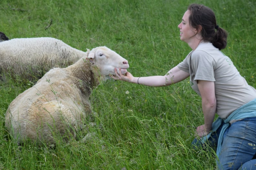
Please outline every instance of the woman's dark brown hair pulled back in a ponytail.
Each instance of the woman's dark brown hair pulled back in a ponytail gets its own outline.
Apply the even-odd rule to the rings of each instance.
[[[219,50],[227,45],[227,32],[216,23],[214,12],[204,5],[191,4],[187,10],[191,12],[189,24],[198,29],[202,26],[201,34],[203,41],[211,42]],[[216,31],[215,31],[216,30]]]

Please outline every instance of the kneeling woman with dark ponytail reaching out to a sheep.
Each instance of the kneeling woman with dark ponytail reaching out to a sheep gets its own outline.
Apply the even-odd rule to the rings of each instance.
[[[129,72],[120,75],[116,71],[113,79],[159,87],[190,76],[192,89],[202,98],[204,115],[204,125],[196,130],[202,141],[195,139],[193,143],[218,138],[217,165],[221,170],[256,169],[256,90],[220,52],[227,44],[226,31],[217,25],[211,9],[197,4],[188,7],[178,28],[180,39],[192,51],[167,74],[133,77]],[[219,118],[213,123],[215,113]]]

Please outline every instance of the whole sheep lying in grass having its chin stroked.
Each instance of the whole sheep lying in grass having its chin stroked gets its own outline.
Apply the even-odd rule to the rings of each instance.
[[[92,113],[89,97],[100,82],[128,61],[109,48],[96,47],[66,68],[53,68],[19,94],[5,113],[5,127],[19,144],[34,141],[54,145],[55,134],[68,141],[76,137],[83,118]]]

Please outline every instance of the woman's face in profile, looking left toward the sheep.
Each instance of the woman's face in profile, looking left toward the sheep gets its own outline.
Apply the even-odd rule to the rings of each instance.
[[[180,40],[187,43],[193,41],[193,37],[197,34],[197,30],[190,27],[188,20],[190,13],[191,12],[187,10],[182,17],[182,22],[178,25],[178,28],[180,29]]]

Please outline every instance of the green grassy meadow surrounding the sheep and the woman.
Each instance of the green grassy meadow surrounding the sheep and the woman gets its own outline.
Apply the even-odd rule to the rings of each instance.
[[[54,37],[82,51],[105,45],[129,61],[134,76],[164,75],[191,51],[177,28],[191,3],[213,9],[229,33],[223,52],[256,87],[254,0],[1,0],[0,31],[9,39]],[[215,169],[213,151],[191,147],[203,114],[188,79],[157,88],[102,83],[80,140],[54,148],[18,146],[4,127],[9,103],[31,86],[18,77],[0,81],[0,169]]]

